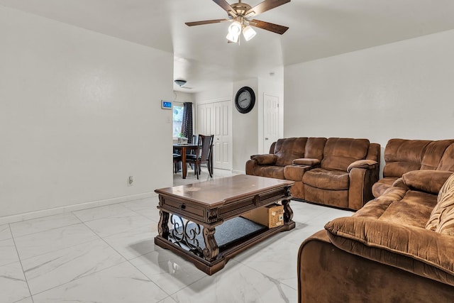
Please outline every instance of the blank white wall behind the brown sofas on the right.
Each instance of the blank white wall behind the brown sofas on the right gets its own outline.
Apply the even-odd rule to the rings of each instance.
[[[284,70],[284,136],[454,138],[454,31]]]

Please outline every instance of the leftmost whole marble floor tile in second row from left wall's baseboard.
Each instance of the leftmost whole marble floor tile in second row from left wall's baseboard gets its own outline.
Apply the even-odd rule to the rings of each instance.
[[[90,228],[81,223],[32,233],[15,238],[15,241],[19,257],[24,260],[98,238]]]

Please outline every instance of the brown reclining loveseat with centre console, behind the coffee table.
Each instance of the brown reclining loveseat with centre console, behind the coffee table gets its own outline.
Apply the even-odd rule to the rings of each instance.
[[[360,209],[373,198],[380,145],[355,138],[283,138],[252,155],[246,174],[295,181],[294,199]]]

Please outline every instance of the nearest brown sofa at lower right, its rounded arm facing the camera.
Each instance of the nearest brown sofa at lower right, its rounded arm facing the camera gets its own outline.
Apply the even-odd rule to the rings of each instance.
[[[407,172],[307,238],[298,253],[299,302],[454,302],[454,175],[450,201],[437,199],[450,175]],[[432,230],[433,217],[450,226]]]

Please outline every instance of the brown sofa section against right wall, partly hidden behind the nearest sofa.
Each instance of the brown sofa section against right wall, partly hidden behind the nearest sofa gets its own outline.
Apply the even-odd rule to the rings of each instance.
[[[454,172],[454,140],[391,139],[384,148],[384,162],[383,178],[372,187],[374,197],[411,170]]]

